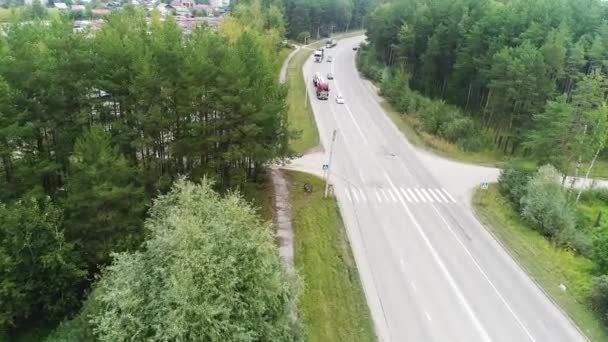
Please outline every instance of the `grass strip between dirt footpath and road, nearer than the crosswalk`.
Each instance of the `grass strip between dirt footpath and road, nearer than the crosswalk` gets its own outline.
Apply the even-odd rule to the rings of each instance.
[[[295,263],[304,289],[300,314],[310,342],[375,341],[357,267],[334,198],[323,181],[289,172]],[[305,193],[305,182],[313,193]]]

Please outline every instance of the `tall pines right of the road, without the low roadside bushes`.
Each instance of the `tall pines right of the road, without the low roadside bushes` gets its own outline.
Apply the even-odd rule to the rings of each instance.
[[[538,140],[546,133],[543,112],[560,116],[552,126],[566,125],[570,137],[603,135],[603,119],[581,118],[604,102],[582,88],[605,93],[607,9],[601,0],[389,1],[373,10],[367,27],[374,58],[403,67],[414,90],[474,113],[505,151],[516,151],[533,131],[537,141],[525,146],[539,151],[549,143]],[[581,149],[570,153],[569,162],[589,158]]]

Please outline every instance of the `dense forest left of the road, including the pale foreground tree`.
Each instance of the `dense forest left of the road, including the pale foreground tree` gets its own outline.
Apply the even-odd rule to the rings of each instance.
[[[295,280],[234,194],[289,155],[284,26],[256,1],[189,35],[131,7],[3,27],[0,340],[297,340]]]

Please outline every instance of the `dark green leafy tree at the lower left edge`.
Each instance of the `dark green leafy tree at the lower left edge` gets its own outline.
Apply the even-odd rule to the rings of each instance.
[[[54,322],[79,306],[86,269],[61,225],[49,201],[0,203],[0,330],[27,319]]]

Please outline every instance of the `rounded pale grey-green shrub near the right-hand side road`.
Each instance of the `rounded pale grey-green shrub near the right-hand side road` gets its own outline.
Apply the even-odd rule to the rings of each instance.
[[[560,173],[551,165],[541,167],[521,198],[521,216],[546,236],[574,230],[575,218],[560,184]]]

